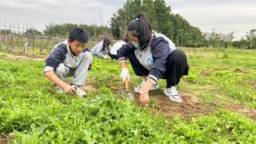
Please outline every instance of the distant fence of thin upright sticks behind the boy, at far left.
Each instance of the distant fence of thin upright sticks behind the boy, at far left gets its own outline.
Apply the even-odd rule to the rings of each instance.
[[[0,50],[18,54],[45,55],[49,54],[54,45],[66,39],[65,36],[44,36],[40,34],[26,34],[27,30],[34,30],[34,26],[0,25]],[[102,37],[102,36],[100,36]],[[99,39],[90,39],[86,47],[93,47]],[[112,40],[116,42],[117,40]]]

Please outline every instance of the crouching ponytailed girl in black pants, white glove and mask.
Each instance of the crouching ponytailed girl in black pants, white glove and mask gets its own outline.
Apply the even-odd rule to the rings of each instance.
[[[183,75],[188,74],[186,54],[177,50],[165,35],[152,31],[144,13],[138,14],[138,18],[130,22],[127,37],[129,42],[118,50],[122,81],[130,78],[126,67],[128,58],[134,73],[144,78],[142,84],[134,88],[140,93],[142,104],[150,102],[148,93],[159,88],[159,78],[166,79],[164,94],[173,102],[182,102],[175,86]]]

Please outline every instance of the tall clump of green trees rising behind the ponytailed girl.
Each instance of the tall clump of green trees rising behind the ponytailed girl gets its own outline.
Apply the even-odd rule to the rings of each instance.
[[[171,14],[170,6],[166,6],[164,0],[127,0],[110,21],[115,38],[126,36],[126,27],[139,12],[146,13],[153,30],[165,34],[178,46],[202,46],[205,41],[201,30],[191,26],[179,14]]]

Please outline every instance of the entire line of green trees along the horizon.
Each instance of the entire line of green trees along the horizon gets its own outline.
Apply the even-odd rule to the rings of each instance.
[[[191,26],[179,14],[172,14],[170,6],[167,6],[164,0],[126,0],[122,8],[110,18],[110,26],[50,23],[43,30],[43,35],[67,37],[71,29],[79,26],[86,30],[91,38],[105,35],[114,39],[122,39],[126,37],[126,27],[136,18],[139,12],[145,12],[153,30],[165,34],[176,46],[256,49],[256,29],[250,30],[245,38],[240,41],[225,42],[218,36],[206,40],[205,35],[198,27]],[[38,30],[27,30],[26,34],[42,35]],[[234,33],[230,34],[232,40]]]

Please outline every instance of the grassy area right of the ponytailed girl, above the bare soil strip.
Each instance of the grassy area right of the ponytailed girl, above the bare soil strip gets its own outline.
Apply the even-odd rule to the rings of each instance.
[[[186,49],[186,54],[190,74],[183,78],[182,90],[205,102],[229,99],[256,109],[256,51]]]

